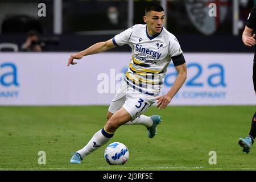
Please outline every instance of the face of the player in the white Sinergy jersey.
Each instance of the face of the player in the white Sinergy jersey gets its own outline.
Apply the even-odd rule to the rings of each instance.
[[[164,23],[164,12],[150,11],[143,17],[147,23],[148,34],[155,35],[161,32]]]

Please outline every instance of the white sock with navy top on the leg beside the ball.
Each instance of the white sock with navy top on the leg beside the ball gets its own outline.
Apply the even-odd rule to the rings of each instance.
[[[77,151],[77,153],[79,153],[82,159],[84,159],[86,155],[89,155],[104,144],[108,143],[113,135],[114,134],[106,133],[104,129],[101,129],[100,131],[97,131],[97,133],[93,135],[92,139],[90,139],[86,146],[81,150]]]

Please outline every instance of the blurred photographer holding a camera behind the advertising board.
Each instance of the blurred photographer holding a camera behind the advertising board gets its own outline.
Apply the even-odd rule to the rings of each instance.
[[[27,40],[22,44],[20,51],[41,52],[42,46],[39,41],[39,35],[36,31],[30,31],[27,35]]]

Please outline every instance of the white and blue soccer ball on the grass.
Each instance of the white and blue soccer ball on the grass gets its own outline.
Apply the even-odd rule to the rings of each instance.
[[[127,162],[129,158],[129,151],[124,144],[120,142],[113,142],[106,147],[104,157],[106,162],[110,165],[122,165]]]

